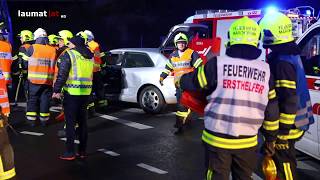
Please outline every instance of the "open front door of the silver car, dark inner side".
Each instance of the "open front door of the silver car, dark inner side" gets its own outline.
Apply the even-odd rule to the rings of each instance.
[[[122,51],[110,52],[106,58],[106,66],[101,70],[105,94],[120,94],[123,88]]]

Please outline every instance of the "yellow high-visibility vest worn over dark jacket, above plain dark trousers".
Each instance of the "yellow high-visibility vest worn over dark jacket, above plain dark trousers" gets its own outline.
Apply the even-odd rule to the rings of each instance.
[[[76,50],[68,50],[71,60],[69,76],[63,89],[70,95],[90,95],[94,60],[86,59]]]

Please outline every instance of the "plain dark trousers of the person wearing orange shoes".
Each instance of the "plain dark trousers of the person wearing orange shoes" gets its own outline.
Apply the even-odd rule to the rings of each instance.
[[[63,107],[66,123],[66,148],[69,153],[74,153],[74,140],[76,135],[75,124],[78,124],[77,133],[79,136],[79,152],[85,152],[88,139],[88,104],[89,96],[73,96],[64,93]]]

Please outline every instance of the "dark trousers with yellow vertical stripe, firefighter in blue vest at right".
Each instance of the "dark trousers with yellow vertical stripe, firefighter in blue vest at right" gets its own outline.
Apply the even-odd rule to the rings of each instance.
[[[281,180],[297,179],[297,160],[295,150],[296,140],[288,140],[288,146],[279,146],[276,143],[276,152],[272,157],[277,166],[277,177]]]

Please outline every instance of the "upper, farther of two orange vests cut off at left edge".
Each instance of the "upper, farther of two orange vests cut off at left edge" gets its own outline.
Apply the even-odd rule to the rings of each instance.
[[[7,41],[0,41],[0,67],[4,75],[6,84],[12,82],[11,79],[11,64],[12,64],[12,47],[11,44]]]

